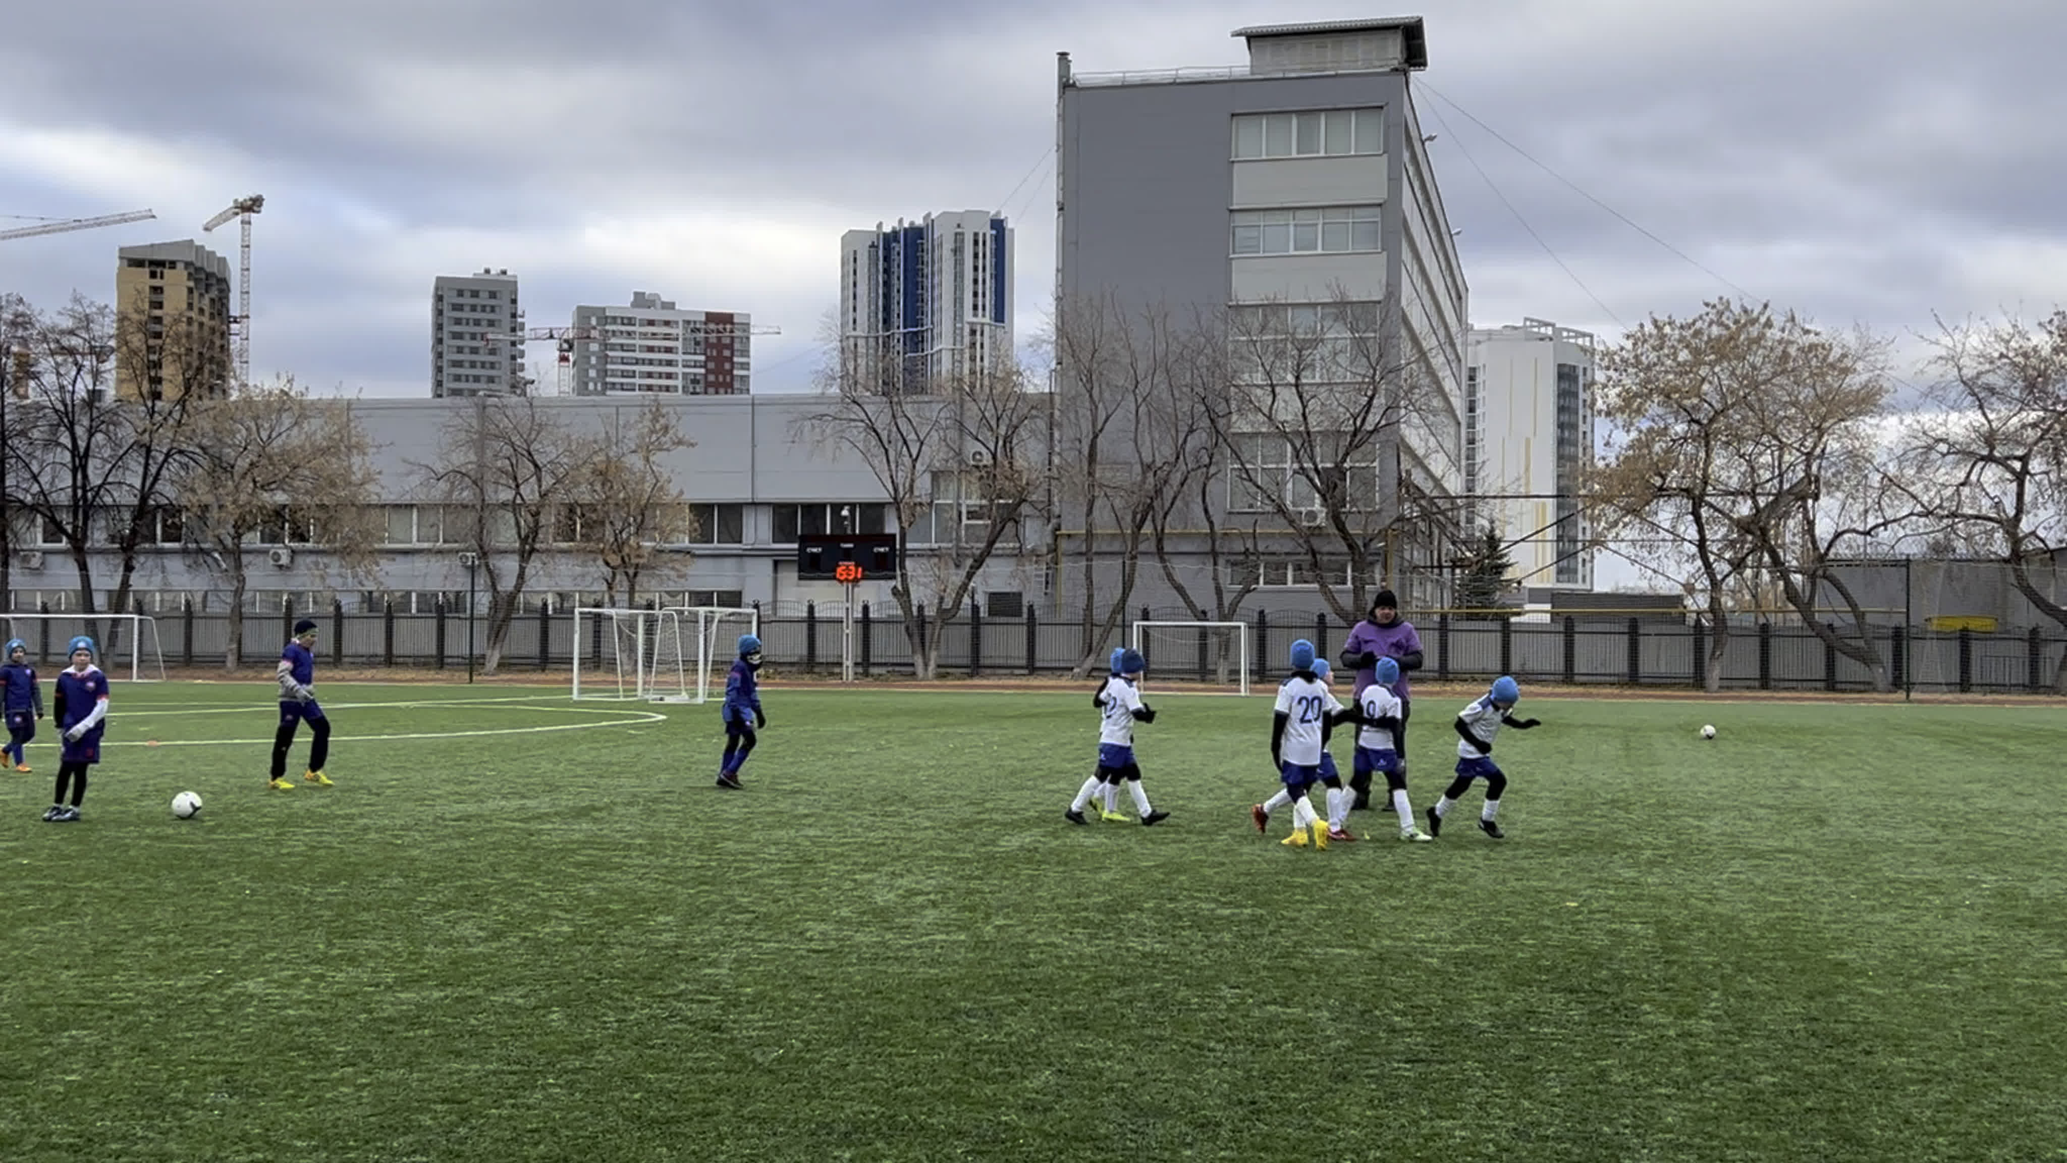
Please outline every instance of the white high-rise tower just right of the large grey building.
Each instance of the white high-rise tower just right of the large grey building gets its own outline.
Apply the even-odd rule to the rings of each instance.
[[[1594,354],[1587,331],[1523,319],[1472,329],[1466,366],[1466,495],[1474,528],[1509,542],[1513,579],[1592,590],[1592,528],[1579,478],[1594,464]]]

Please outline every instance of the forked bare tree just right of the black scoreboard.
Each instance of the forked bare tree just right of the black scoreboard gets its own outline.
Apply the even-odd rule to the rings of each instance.
[[[1009,356],[963,375],[912,385],[903,354],[858,356],[837,346],[821,370],[825,408],[798,418],[819,443],[862,457],[897,511],[897,582],[891,598],[912,644],[912,670],[932,679],[940,660],[938,619],[969,598],[1000,550],[1023,553],[1021,519],[1034,509],[1044,472],[1040,420],[1046,397],[1027,391]],[[876,360],[897,360],[897,368]],[[914,555],[914,538],[934,548]]]

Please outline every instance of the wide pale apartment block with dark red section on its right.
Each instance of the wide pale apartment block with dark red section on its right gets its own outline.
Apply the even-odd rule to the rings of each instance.
[[[577,306],[573,393],[746,395],[752,391],[752,317],[680,310],[651,292],[630,306]]]

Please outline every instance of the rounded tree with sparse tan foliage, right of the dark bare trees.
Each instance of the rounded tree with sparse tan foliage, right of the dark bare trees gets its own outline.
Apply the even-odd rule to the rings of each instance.
[[[314,540],[347,573],[374,565],[376,474],[366,430],[345,401],[316,401],[283,377],[234,385],[188,418],[192,457],[176,478],[188,557],[229,586],[223,668],[244,658],[244,594],[267,534]]]

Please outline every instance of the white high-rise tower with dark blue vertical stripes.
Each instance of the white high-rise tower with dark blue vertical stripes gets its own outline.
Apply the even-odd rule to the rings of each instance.
[[[965,209],[839,238],[839,335],[870,391],[928,383],[1013,356],[1013,230]]]

